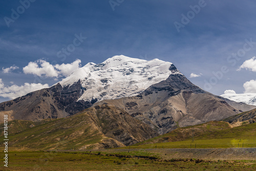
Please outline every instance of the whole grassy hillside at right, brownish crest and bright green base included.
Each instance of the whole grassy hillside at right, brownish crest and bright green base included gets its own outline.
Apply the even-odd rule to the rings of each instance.
[[[192,130],[194,136],[188,133]],[[212,121],[183,127],[126,148],[228,148],[243,145],[256,147],[256,123],[230,128],[228,123]]]

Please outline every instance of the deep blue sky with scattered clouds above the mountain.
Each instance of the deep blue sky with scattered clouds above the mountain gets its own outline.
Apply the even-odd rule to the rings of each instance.
[[[189,12],[190,6],[199,6],[200,11]],[[187,78],[191,73],[198,76],[189,78],[191,82],[216,95],[229,89],[256,93],[252,65],[256,56],[255,8],[252,0],[2,0],[0,102],[46,84],[51,86],[68,74],[65,67],[72,70],[121,54],[173,62]],[[182,14],[190,19],[188,24],[183,20],[178,32],[174,23],[182,24]],[[74,46],[77,36],[86,38]],[[65,54],[62,48],[68,47],[72,52]],[[248,60],[252,64],[247,62],[237,71]],[[55,66],[57,76],[29,68],[43,63]],[[62,63],[71,65],[56,67]],[[26,66],[29,69],[24,71]],[[243,87],[250,80],[249,88]]]

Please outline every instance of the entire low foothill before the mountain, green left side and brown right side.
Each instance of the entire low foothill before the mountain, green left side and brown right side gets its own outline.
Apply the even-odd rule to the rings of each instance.
[[[132,145],[159,134],[111,105],[97,105],[67,118],[9,135],[15,149],[99,149]]]

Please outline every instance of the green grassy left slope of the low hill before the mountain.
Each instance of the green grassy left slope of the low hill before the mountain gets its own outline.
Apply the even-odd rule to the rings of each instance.
[[[11,134],[9,136],[10,147],[16,149],[74,149],[77,146],[96,143],[104,136],[92,122],[87,114],[80,114],[40,124],[23,132]]]

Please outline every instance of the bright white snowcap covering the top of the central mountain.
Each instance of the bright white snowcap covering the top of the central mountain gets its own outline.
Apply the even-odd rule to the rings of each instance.
[[[181,74],[171,62],[120,55],[99,64],[90,62],[59,83],[66,87],[80,80],[84,92],[78,100],[100,101],[138,95],[170,74]]]

